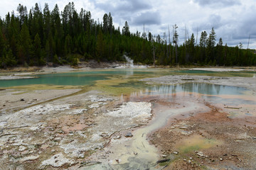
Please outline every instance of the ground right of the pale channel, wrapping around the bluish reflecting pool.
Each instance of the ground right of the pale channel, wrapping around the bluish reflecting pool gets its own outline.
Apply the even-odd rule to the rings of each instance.
[[[184,75],[144,81],[150,84],[196,82],[246,87],[252,91],[243,98],[256,101],[255,78]],[[240,98],[242,100],[242,96]],[[204,104],[210,111],[172,117],[168,125],[150,135],[151,144],[159,148],[162,155],[160,166],[163,169],[255,169],[255,105],[228,107],[206,101]],[[233,117],[233,112],[237,116]]]

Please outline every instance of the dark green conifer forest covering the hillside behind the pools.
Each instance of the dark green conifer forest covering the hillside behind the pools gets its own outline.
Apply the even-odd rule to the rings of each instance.
[[[178,26],[173,35],[131,33],[126,22],[115,28],[111,13],[105,13],[102,21],[92,19],[90,11],[75,9],[69,3],[60,12],[58,5],[53,11],[45,4],[43,11],[36,4],[28,11],[18,4],[14,12],[0,19],[0,67],[56,64],[76,65],[79,61],[124,61],[124,54],[134,62],[143,64],[209,64],[209,65],[256,65],[253,50],[223,45],[215,40],[215,30],[191,35],[186,43],[178,45]],[[167,44],[167,39],[172,43]]]

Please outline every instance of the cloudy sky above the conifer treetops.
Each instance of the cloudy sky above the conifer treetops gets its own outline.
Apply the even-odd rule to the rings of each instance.
[[[68,4],[68,0],[4,0],[1,1],[0,16],[4,18],[8,11],[15,11],[19,3],[30,9],[36,3],[43,6],[48,3],[50,10],[58,4],[60,11]],[[78,13],[84,8],[92,13],[92,18],[102,21],[104,13],[111,12],[114,25],[124,26],[127,21],[132,32],[150,31],[153,35],[172,33],[172,26],[177,24],[179,43],[185,36],[198,32],[198,42],[201,31],[210,33],[215,29],[217,41],[223,38],[223,43],[230,46],[242,42],[247,48],[250,36],[250,48],[256,48],[256,3],[255,0],[73,0]],[[197,31],[198,30],[198,31]]]

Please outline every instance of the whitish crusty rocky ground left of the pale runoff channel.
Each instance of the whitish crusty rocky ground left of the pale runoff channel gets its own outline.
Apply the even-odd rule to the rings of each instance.
[[[0,94],[3,170],[80,169],[90,162],[90,154],[108,145],[110,137],[119,139],[120,131],[151,119],[150,103],[120,102],[99,91],[15,93]]]

